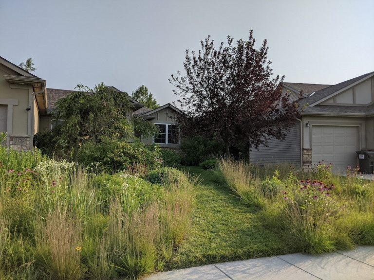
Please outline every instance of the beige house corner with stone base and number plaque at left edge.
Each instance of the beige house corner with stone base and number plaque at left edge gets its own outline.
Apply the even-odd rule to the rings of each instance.
[[[0,57],[0,132],[6,145],[30,150],[47,110],[45,80]]]

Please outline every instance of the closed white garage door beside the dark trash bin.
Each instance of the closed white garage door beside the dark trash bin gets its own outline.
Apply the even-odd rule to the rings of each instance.
[[[358,164],[357,154],[360,149],[357,126],[313,125],[312,160],[318,164],[322,159],[333,163],[334,173],[344,173],[347,166]]]

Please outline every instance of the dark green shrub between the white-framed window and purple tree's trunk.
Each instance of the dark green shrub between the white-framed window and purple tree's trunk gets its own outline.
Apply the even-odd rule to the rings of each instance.
[[[212,159],[212,155],[218,157],[223,154],[224,142],[207,140],[201,136],[192,136],[181,144],[184,156],[183,165],[198,166],[200,162]]]

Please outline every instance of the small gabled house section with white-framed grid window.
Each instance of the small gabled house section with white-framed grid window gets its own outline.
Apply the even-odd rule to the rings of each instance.
[[[134,111],[135,116],[140,116],[145,120],[150,121],[158,126],[160,133],[154,137],[143,138],[141,141],[146,144],[156,143],[161,148],[179,149],[180,148],[180,137],[179,128],[175,124],[176,118],[183,115],[177,107],[170,103],[165,104],[156,109],[150,109],[147,107],[140,108]],[[137,136],[135,134],[135,136]]]

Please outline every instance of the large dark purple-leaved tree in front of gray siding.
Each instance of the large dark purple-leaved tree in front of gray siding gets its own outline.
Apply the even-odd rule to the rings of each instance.
[[[188,116],[179,119],[182,134],[222,139],[226,155],[238,142],[257,148],[284,139],[299,116],[298,101],[282,95],[283,77],[273,77],[267,41],[256,49],[252,30],[247,41],[233,41],[228,36],[216,49],[208,36],[198,53],[186,51],[186,75],[169,79]]]

